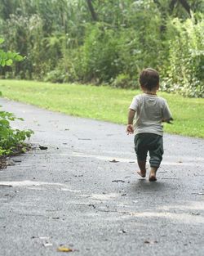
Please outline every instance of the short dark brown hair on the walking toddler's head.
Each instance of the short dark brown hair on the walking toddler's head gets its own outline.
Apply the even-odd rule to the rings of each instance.
[[[157,70],[150,68],[142,70],[139,82],[141,87],[147,88],[149,91],[156,88],[159,84],[159,74]]]

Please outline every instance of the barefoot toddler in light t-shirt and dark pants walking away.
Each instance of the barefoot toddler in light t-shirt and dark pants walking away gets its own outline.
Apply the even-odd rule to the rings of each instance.
[[[141,177],[146,176],[146,159],[149,152],[149,181],[157,181],[156,173],[162,162],[163,127],[162,122],[171,124],[171,112],[167,102],[157,97],[159,74],[156,70],[145,69],[140,74],[142,94],[135,96],[131,102],[127,134],[135,134],[135,153]],[[134,122],[133,122],[134,121]]]

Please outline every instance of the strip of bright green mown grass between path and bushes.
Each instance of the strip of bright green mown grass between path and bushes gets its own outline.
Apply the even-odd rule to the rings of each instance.
[[[118,124],[126,124],[132,97],[140,93],[102,86],[22,80],[0,80],[0,91],[3,97],[11,100]],[[204,137],[204,99],[184,98],[165,92],[158,95],[166,98],[175,119],[173,125],[165,124],[165,132]]]

